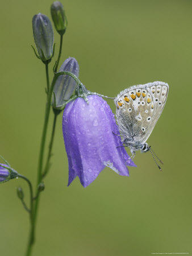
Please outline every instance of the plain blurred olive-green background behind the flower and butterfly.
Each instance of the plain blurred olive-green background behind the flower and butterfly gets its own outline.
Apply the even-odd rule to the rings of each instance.
[[[51,18],[51,3],[10,0],[2,2],[0,10],[0,154],[34,184],[45,110],[45,68],[31,48],[35,45],[31,20],[39,12]],[[114,97],[131,85],[168,82],[168,101],[148,139],[164,166],[160,172],[150,153],[137,151],[137,168],[130,168],[130,177],[106,168],[87,188],[78,179],[66,187],[68,160],[60,115],[33,255],[191,255],[192,2],[62,3],[68,28],[61,61],[76,57],[87,89]],[[55,42],[57,53],[56,32]],[[113,101],[107,102],[115,112]],[[18,185],[27,200],[24,181],[0,186],[2,256],[20,256],[26,250],[29,220],[16,196]]]

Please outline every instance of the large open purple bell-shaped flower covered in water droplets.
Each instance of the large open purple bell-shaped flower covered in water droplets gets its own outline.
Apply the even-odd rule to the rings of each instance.
[[[127,155],[110,106],[97,95],[66,105],[62,130],[69,163],[69,182],[76,176],[87,187],[107,166],[117,174],[129,176],[127,166],[135,164]]]

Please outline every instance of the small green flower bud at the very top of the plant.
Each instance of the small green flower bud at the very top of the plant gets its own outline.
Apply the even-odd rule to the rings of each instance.
[[[60,35],[63,35],[66,30],[67,20],[62,3],[60,3],[59,1],[52,3],[51,16],[55,25],[55,29]]]

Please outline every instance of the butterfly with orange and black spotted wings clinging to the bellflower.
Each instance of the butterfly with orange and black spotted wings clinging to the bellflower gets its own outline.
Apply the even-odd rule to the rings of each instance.
[[[164,109],[168,92],[168,84],[156,81],[133,85],[116,96],[114,101],[120,136],[123,137],[123,144],[130,148],[132,157],[136,150],[150,150],[152,156],[155,154],[146,141]]]

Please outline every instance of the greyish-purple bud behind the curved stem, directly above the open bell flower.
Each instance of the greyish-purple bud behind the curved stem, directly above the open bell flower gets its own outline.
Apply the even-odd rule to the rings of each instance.
[[[69,57],[68,59],[66,59],[59,70],[59,72],[62,71],[72,72],[78,77],[79,66],[77,60],[73,57]],[[62,106],[64,104],[64,101],[69,100],[75,88],[76,81],[74,81],[73,77],[70,77],[68,75],[59,76],[53,90],[56,100],[55,106]]]

